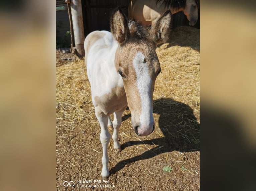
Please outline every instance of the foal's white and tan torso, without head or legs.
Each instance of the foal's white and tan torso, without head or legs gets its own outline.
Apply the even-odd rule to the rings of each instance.
[[[91,84],[92,101],[106,115],[127,106],[122,77],[116,71],[114,60],[118,43],[108,31],[94,31],[85,41],[88,50],[87,75]],[[97,59],[96,59],[97,58]]]

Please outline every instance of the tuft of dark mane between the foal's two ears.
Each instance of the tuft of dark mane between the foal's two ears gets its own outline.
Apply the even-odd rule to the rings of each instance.
[[[149,38],[148,27],[135,21],[129,21],[130,35],[134,39],[142,40]]]

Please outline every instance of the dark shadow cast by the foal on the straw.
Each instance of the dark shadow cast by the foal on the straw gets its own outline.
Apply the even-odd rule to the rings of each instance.
[[[143,142],[128,141],[123,143],[121,145],[122,150],[125,147],[144,143],[157,146],[141,155],[120,161],[110,169],[111,174],[115,174],[127,164],[149,159],[161,153],[174,150],[179,152],[200,150],[200,124],[197,122],[191,107],[170,98],[160,98],[154,100],[153,112],[160,114],[159,128],[164,136],[143,140]]]

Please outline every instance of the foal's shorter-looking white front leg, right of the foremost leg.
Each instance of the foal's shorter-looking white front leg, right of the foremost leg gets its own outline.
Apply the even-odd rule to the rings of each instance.
[[[126,107],[127,106],[125,106],[120,111],[114,112],[114,121],[113,121],[114,131],[113,131],[112,139],[114,140],[114,149],[117,152],[121,151],[121,146],[120,146],[120,143],[118,141],[118,132],[119,132],[119,128],[120,128],[121,122],[122,122],[122,114],[123,114],[124,110],[126,109]]]

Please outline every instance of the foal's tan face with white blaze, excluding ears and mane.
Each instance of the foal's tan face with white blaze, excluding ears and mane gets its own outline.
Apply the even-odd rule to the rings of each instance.
[[[155,128],[152,103],[154,84],[160,73],[160,63],[151,40],[127,42],[120,48],[117,70],[121,75],[132,113],[132,126],[139,136]]]

